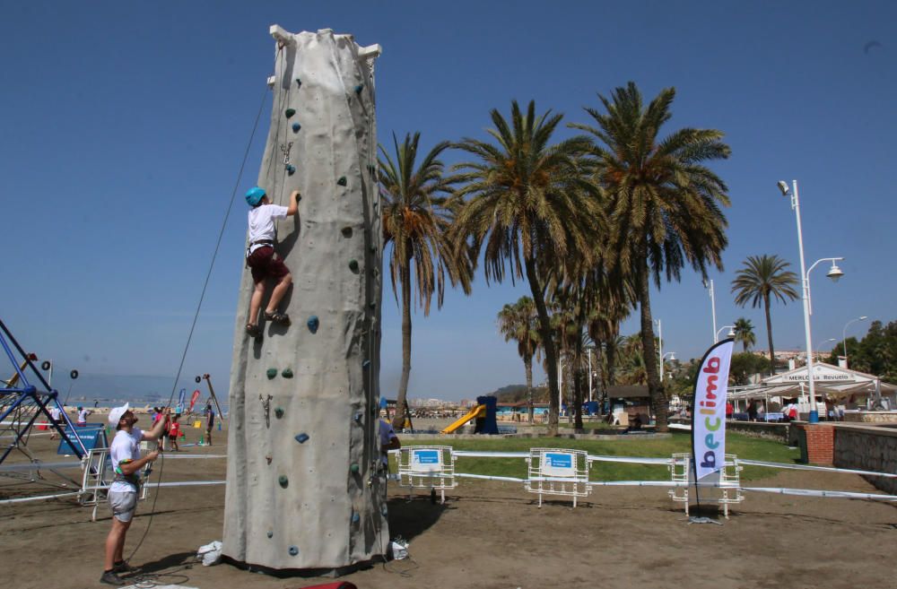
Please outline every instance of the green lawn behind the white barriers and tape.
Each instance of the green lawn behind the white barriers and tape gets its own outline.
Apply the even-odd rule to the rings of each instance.
[[[483,437],[483,439],[414,440],[405,446],[452,446],[456,450],[485,452],[529,452],[530,448],[564,448],[586,450],[590,455],[639,456],[669,458],[674,453],[691,452],[692,438],[688,433],[674,433],[664,439],[588,440],[558,437]],[[727,454],[749,460],[774,463],[794,463],[800,457],[798,450],[769,439],[727,434]],[[527,461],[523,458],[468,458],[458,457],[457,472],[487,474],[492,476],[527,478]],[[395,472],[395,470],[393,471]],[[668,481],[666,465],[592,463],[592,481]],[[745,466],[743,481],[762,479],[775,474],[776,469]]]

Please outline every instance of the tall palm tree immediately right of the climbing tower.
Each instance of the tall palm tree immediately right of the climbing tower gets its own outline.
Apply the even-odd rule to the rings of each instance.
[[[438,143],[415,169],[421,134],[405,134],[401,145],[393,134],[395,160],[380,145],[380,194],[383,202],[384,246],[392,244],[389,256],[389,278],[398,301],[396,282],[402,289],[402,379],[396,398],[395,427],[405,423],[408,378],[411,375],[411,307],[412,275],[417,288],[416,302],[423,315],[430,314],[433,292],[437,306],[442,307],[446,279],[460,285],[470,294],[473,264],[457,255],[447,231],[454,219],[453,204],[441,194],[450,193],[451,181],[443,176],[444,166],[438,159],[448,142]],[[414,262],[414,264],[412,264]]]

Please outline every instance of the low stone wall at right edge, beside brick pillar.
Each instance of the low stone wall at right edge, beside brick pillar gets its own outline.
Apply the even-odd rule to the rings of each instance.
[[[834,464],[862,471],[897,472],[897,429],[840,423],[835,428]],[[897,495],[897,479],[867,477],[876,488]]]

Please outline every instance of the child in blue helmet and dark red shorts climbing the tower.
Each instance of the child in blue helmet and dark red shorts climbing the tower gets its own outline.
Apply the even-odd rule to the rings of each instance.
[[[252,282],[255,290],[249,300],[249,319],[246,325],[246,333],[252,337],[262,335],[262,327],[258,325],[258,311],[262,307],[262,299],[265,298],[265,285],[268,279],[274,279],[277,284],[271,291],[271,298],[265,309],[265,318],[278,325],[290,325],[290,316],[277,310],[283,295],[290,288],[292,274],[283,264],[283,260],[274,257],[274,219],[292,217],[299,209],[300,193],[293,190],[290,195],[290,205],[281,206],[272,204],[271,199],[264,188],[255,186],[246,193],[246,202],[252,208],[249,210],[249,246],[246,249],[246,264],[252,271]]]

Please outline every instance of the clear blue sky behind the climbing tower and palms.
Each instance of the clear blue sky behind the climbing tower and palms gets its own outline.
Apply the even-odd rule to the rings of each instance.
[[[730,284],[747,256],[778,255],[799,272],[795,215],[776,188],[795,178],[807,266],[845,258],[837,284],[825,279],[825,264],[811,274],[814,348],[840,341],[852,318],[897,318],[897,4],[0,0],[0,13],[0,319],[23,347],[54,360],[60,390],[73,385],[71,368],[171,386],[223,226],[179,385],[208,372],[226,391],[246,232],[241,195],[257,179],[269,124],[274,23],[382,46],[384,144],[415,131],[428,150],[484,139],[490,110],[507,116],[511,100],[587,122],[583,107],[629,81],[646,100],[673,86],[666,134],[716,128],[732,148],[712,166],[732,201],[725,269],[710,273],[718,327],[744,316],[756,348],[767,347],[762,308],[736,307]],[[504,342],[495,316],[528,293],[525,282],[487,285],[481,270],[471,296],[450,291],[440,310],[417,312],[409,395],[457,400],[524,382],[517,347]],[[388,282],[383,297],[380,384],[392,397],[401,325]],[[662,284],[651,306],[664,350],[700,358],[713,339],[701,277],[685,272]],[[804,347],[799,300],[775,304],[772,321],[777,350]],[[848,335],[867,325],[850,325]],[[638,330],[633,314],[622,331]],[[143,394],[135,383],[144,382],[122,378],[118,387]]]

